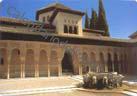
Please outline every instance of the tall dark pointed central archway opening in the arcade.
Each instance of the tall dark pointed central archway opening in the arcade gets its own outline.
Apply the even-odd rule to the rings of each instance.
[[[67,51],[62,59],[62,72],[73,74],[73,60],[71,52]]]

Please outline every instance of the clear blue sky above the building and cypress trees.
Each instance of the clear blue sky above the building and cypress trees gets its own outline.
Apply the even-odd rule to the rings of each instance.
[[[92,8],[98,11],[98,0],[3,0],[0,3],[0,16],[15,17],[13,15],[17,14],[21,18],[35,20],[36,10],[53,2],[62,3],[83,12],[88,10],[89,16]],[[128,38],[130,34],[137,31],[135,0],[103,0],[103,3],[111,37]]]

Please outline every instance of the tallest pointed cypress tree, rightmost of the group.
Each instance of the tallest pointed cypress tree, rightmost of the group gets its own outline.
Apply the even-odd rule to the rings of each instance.
[[[97,29],[105,31],[104,36],[110,36],[102,0],[99,0],[99,15],[97,21]]]

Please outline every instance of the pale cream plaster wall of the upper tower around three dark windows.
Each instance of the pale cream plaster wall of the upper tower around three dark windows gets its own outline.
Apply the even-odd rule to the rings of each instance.
[[[65,22],[66,20],[66,22]],[[56,31],[60,35],[68,35],[64,33],[64,25],[70,25],[70,26],[77,26],[78,27],[78,34],[76,36],[82,36],[82,16],[59,12],[56,16],[53,25],[56,26]],[[72,36],[75,34],[69,34],[69,36]]]

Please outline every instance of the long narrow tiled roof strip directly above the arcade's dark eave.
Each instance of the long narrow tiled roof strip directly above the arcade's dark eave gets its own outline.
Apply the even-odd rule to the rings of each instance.
[[[52,30],[51,30],[52,31]],[[0,32],[10,32],[10,33],[22,33],[22,34],[33,34],[33,35],[45,35],[48,33],[44,32],[33,32],[28,30],[22,30],[20,28],[10,28],[0,26]],[[133,39],[117,39],[104,36],[72,36],[72,35],[58,35],[52,34],[53,36],[65,37],[65,38],[77,38],[77,39],[89,39],[89,40],[98,40],[98,41],[109,41],[109,42],[120,42],[120,43],[135,43],[137,40]]]

